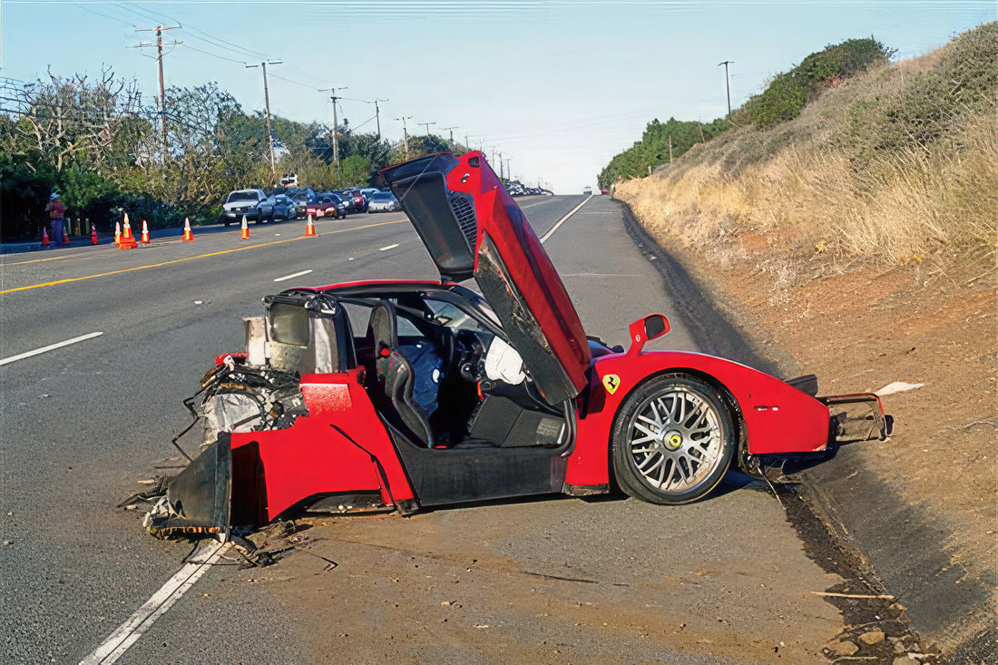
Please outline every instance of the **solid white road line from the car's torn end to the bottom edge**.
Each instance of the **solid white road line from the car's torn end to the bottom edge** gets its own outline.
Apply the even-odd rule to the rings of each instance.
[[[194,586],[202,575],[219,560],[231,542],[212,543],[195,553],[191,561],[164,584],[146,604],[136,610],[128,621],[118,627],[104,644],[80,661],[80,665],[111,665],[142,637],[153,623]]]

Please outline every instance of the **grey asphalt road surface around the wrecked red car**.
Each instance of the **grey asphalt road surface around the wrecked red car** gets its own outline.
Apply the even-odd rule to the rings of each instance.
[[[540,235],[583,199],[521,206]],[[262,296],[436,278],[400,215],[317,230],[253,225],[242,241],[238,229],[196,229],[195,243],[0,257],[0,359],[102,333],[0,365],[4,662],[80,662],[191,553],[115,505],[178,463],[181,399],[216,353],[241,347],[241,319],[261,313]],[[675,314],[615,203],[591,199],[546,248],[587,333],[622,343],[632,321]],[[673,324],[655,345],[695,349]],[[752,487],[672,508],[551,498],[331,518],[308,534],[314,556],[215,566],[119,662],[799,662],[841,628],[810,593],[837,577]]]

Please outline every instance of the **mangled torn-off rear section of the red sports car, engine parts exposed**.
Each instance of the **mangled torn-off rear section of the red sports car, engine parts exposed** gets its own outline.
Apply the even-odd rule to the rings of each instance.
[[[388,471],[378,471],[390,442],[364,392],[363,369],[353,366],[345,310],[313,292],[263,302],[266,316],[245,320],[247,351],[220,355],[185,400],[192,428],[204,426],[202,452],[147,513],[144,525],[157,537],[225,538],[233,527],[263,525],[336,495],[364,497],[351,505],[365,510],[390,509],[386,474],[398,498],[412,498],[397,464],[386,460]]]

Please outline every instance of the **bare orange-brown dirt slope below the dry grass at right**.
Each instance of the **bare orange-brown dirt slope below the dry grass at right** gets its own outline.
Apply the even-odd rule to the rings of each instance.
[[[888,440],[843,448],[805,474],[805,491],[954,662],[994,656],[994,266],[841,267],[803,254],[800,241],[747,233],[697,252],[660,244],[748,337],[729,356],[815,373],[822,394],[922,384],[884,397],[896,418]]]

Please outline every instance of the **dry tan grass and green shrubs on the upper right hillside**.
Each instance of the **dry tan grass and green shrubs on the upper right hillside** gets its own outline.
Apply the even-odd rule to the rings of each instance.
[[[781,245],[789,273],[824,253],[993,265],[998,23],[894,64],[866,42],[777,75],[733,114],[739,127],[624,184],[621,198],[687,247]]]

